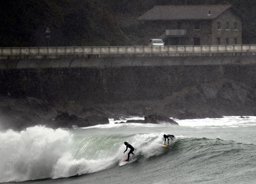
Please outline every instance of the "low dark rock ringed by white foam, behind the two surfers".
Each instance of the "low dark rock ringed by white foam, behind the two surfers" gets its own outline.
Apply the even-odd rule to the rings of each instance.
[[[160,124],[160,123],[169,123],[169,124],[175,124],[179,125],[176,121],[173,119],[167,117],[167,116],[160,116],[160,115],[148,115],[144,117],[144,120],[127,120],[126,123],[153,123],[153,124]]]

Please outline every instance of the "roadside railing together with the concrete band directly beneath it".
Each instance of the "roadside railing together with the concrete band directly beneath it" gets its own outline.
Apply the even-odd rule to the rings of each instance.
[[[0,48],[0,69],[255,63],[256,45]]]

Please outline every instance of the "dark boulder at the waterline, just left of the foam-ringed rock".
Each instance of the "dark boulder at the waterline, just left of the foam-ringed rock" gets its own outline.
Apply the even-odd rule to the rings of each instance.
[[[67,112],[62,112],[54,119],[54,127],[72,128],[73,125],[77,127],[87,127],[97,124],[108,124],[107,117],[90,116],[90,117],[77,117],[73,114],[69,115]]]

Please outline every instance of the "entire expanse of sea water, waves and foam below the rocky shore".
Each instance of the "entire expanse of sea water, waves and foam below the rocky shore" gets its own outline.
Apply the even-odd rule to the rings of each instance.
[[[1,131],[0,182],[255,183],[256,117],[174,120]],[[176,137],[166,148],[164,134]],[[124,141],[135,156],[119,167]]]

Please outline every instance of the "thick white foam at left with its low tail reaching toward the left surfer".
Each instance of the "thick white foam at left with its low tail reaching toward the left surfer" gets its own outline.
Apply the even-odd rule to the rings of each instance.
[[[0,182],[69,177],[113,165],[114,158],[74,159],[72,135],[42,126],[0,132]]]

